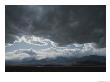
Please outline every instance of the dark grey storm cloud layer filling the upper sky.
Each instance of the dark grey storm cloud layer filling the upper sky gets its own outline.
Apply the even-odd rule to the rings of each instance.
[[[105,6],[6,6],[6,43],[36,35],[59,44],[106,44]]]

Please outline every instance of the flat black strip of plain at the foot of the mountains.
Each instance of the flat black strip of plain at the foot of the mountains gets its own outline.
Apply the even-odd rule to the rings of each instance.
[[[106,66],[5,66],[6,72],[106,72]]]

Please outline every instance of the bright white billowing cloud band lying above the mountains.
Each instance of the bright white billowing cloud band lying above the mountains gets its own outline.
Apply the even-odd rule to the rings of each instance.
[[[95,43],[72,43],[61,47],[52,40],[24,35],[13,44],[6,45],[6,61],[81,58],[84,56],[105,56],[105,48],[97,48]]]

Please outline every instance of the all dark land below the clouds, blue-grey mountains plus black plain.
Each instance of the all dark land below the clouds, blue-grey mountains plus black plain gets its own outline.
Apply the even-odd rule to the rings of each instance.
[[[59,61],[72,62],[63,65]],[[63,61],[63,62],[64,62]],[[65,59],[57,58],[57,60],[42,60],[41,63],[31,64],[12,64],[9,61],[5,62],[6,72],[106,72],[106,57],[101,56],[85,56],[83,58]],[[38,62],[38,61],[37,61]],[[49,62],[49,63],[48,63]],[[55,64],[57,62],[57,64]],[[74,63],[76,62],[76,63]]]

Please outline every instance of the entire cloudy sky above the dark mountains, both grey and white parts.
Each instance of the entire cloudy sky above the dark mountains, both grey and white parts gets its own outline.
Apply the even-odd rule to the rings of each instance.
[[[106,6],[6,5],[5,53],[13,62],[106,56]]]

